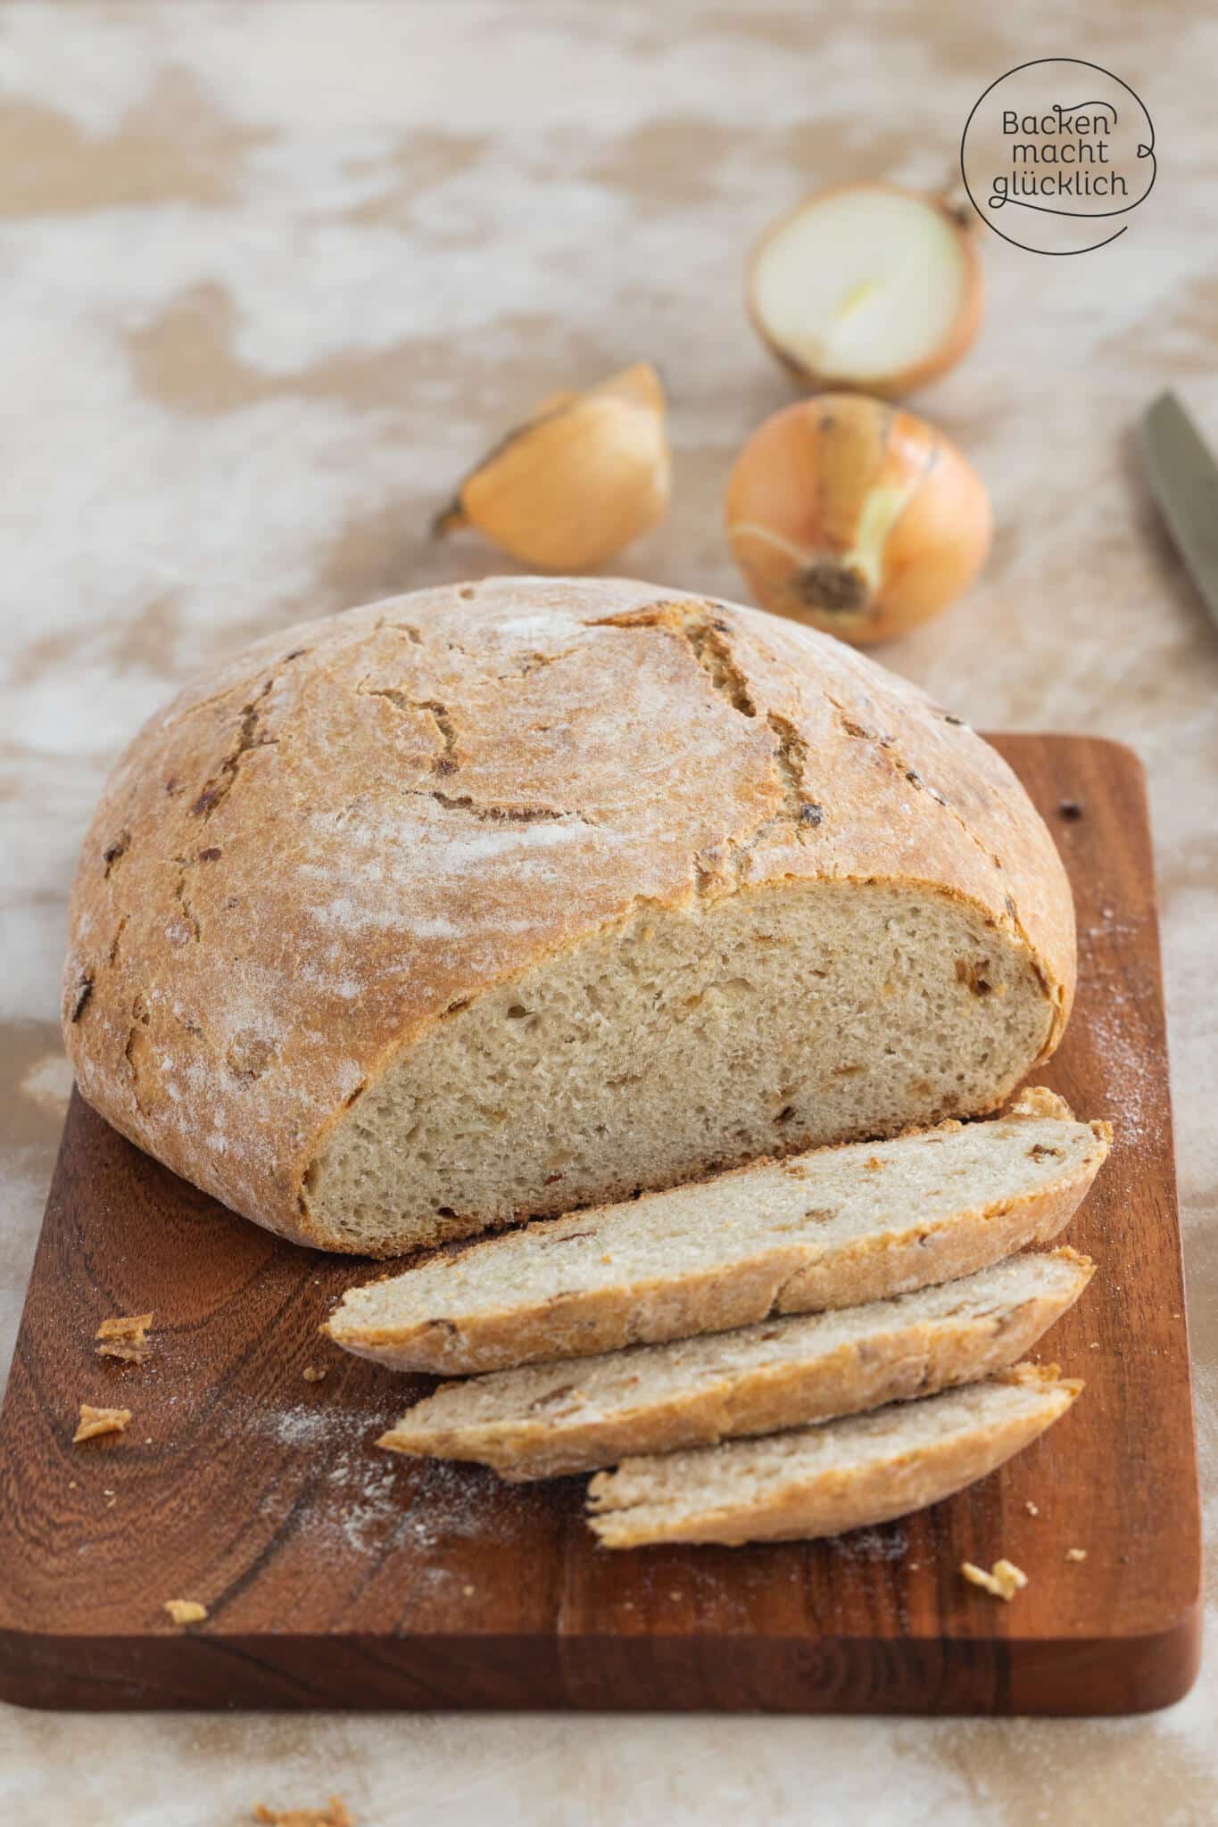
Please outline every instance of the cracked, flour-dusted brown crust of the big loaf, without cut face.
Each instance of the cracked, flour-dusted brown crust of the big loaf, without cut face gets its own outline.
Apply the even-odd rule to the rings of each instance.
[[[424,590],[261,641],[141,731],[73,884],[64,1038],[135,1144],[352,1250],[310,1166],[446,1014],[643,904],[818,879],[968,903],[1026,952],[1052,1052],[1061,862],[1006,764],[915,687],[645,583]]]

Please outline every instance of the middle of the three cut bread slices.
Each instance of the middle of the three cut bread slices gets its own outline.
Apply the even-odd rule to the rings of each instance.
[[[1015,1255],[940,1288],[836,1314],[499,1370],[442,1385],[378,1443],[418,1458],[480,1460],[520,1480],[772,1434],[1013,1365],[1077,1301],[1092,1272],[1074,1250]]]

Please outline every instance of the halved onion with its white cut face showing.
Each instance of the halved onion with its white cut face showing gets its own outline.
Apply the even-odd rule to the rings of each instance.
[[[940,197],[820,190],[749,258],[749,314],[807,387],[897,396],[961,360],[981,327],[973,238]]]

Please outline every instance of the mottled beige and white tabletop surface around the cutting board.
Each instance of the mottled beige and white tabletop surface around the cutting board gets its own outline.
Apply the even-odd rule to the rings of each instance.
[[[0,1374],[68,1093],[64,892],[121,744],[250,636],[497,568],[425,541],[446,482],[533,396],[639,356],[677,491],[628,568],[734,594],[719,490],[789,396],[740,307],[751,236],[813,183],[946,181],[981,90],[1063,49],[1143,95],[1158,185],[1099,254],[988,238],[982,338],[919,404],[986,475],[997,548],[886,660],[975,723],[1149,766],[1213,1524],[1218,632],[1129,438],[1174,384],[1218,442],[1218,20],[1183,4],[0,7]],[[5,1710],[0,1798],[97,1827],[331,1790],[362,1827],[1191,1827],[1218,1816],[1216,1699],[1218,1648],[1181,1706],[1116,1723]]]

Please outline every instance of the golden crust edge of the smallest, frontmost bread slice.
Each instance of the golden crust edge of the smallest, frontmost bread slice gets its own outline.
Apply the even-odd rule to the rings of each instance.
[[[588,1522],[604,1547],[643,1547],[648,1542],[743,1542],[814,1540],[862,1529],[953,1496],[1030,1445],[1061,1420],[1083,1385],[1057,1378],[1055,1365],[1021,1365],[995,1381],[1021,1381],[1035,1390],[1023,1412],[962,1429],[909,1452],[893,1452],[855,1469],[818,1471],[803,1482],[793,1476],[778,1491],[760,1489],[741,1504],[698,1515],[657,1513],[657,1505],[612,1507],[619,1502],[614,1484],[630,1473],[599,1473],[588,1487]],[[714,1452],[714,1449],[710,1449]],[[692,1507],[692,1505],[690,1505]]]

